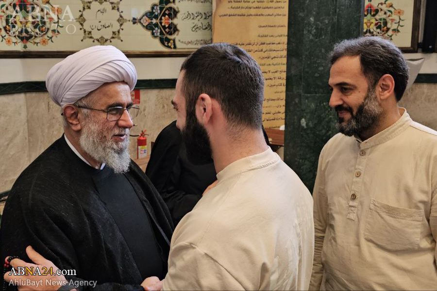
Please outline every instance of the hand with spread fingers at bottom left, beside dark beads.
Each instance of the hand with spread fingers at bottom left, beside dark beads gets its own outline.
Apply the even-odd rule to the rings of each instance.
[[[22,290],[58,290],[61,286],[67,283],[64,275],[57,275],[56,271],[59,270],[50,260],[45,259],[43,256],[38,254],[32,246],[26,248],[26,253],[29,259],[31,259],[35,264],[26,263],[21,259],[11,260],[11,266],[14,271],[18,273],[18,267],[29,268],[31,272],[35,274],[36,269],[41,274],[47,274],[41,277],[41,275],[33,275],[29,272],[28,275],[13,275],[11,272],[6,272],[3,276],[6,282],[18,282],[20,284],[14,284],[17,286],[18,291]],[[7,258],[6,258],[7,259]],[[6,261],[5,259],[5,261]],[[31,269],[33,268],[33,269]],[[43,269],[44,268],[44,269]],[[50,269],[51,268],[51,269]],[[27,281],[29,280],[29,281]],[[28,284],[31,282],[30,284]],[[46,285],[51,282],[51,285]],[[24,284],[23,284],[24,283]]]

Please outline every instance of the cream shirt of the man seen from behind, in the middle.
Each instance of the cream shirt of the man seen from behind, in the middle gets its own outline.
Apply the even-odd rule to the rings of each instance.
[[[171,238],[163,290],[307,290],[313,201],[266,150],[235,161]]]

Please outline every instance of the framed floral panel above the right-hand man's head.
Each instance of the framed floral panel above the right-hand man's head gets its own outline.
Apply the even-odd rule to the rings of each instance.
[[[420,0],[366,0],[363,35],[378,35],[403,52],[417,52]]]

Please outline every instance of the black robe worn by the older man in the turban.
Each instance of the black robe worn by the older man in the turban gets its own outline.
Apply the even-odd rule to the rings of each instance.
[[[76,270],[76,276],[66,276],[68,280],[97,281],[94,290],[144,290],[139,285],[144,279],[141,273],[150,272],[153,266],[140,268],[136,261],[147,257],[148,252],[158,251],[153,255],[157,256],[155,262],[156,258],[162,259],[156,267],[156,275],[162,279],[173,230],[168,209],[134,162],[126,174],[108,170],[107,166],[100,171],[84,163],[64,137],[54,142],[12,187],[1,219],[0,258],[18,256],[29,261],[25,248],[32,245],[60,269]],[[111,209],[115,203],[105,192],[105,183],[114,177],[131,187],[127,190],[130,197],[118,203],[137,203],[135,213],[143,210],[138,218],[148,219],[141,223],[148,223],[154,235],[149,241],[144,236],[138,237],[146,241],[142,256],[130,249],[138,249],[138,245],[133,246],[134,242],[125,238],[132,231],[142,231],[141,224],[132,221],[134,226],[130,230],[120,229],[130,217],[123,218],[117,209]],[[124,209],[129,207],[124,205]],[[153,242],[156,245],[147,247]]]

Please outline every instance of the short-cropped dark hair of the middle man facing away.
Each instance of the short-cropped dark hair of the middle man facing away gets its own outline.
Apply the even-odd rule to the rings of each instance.
[[[187,114],[206,93],[218,101],[232,127],[261,128],[264,78],[244,49],[227,43],[203,46],[186,58],[181,71]]]

